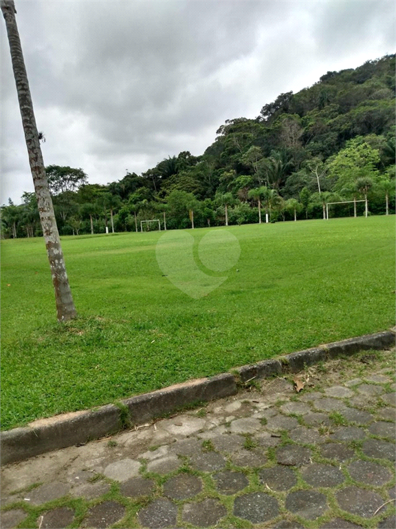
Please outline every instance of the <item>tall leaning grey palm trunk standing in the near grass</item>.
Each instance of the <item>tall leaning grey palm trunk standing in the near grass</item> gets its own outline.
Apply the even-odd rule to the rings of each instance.
[[[21,110],[23,132],[25,133],[26,146],[28,147],[30,169],[36,191],[37,205],[40,212],[41,226],[45,238],[48,260],[50,261],[52,282],[55,290],[56,310],[58,320],[65,321],[76,318],[76,307],[72,298],[69,280],[67,279],[65,260],[61,248],[61,240],[54,216],[54,207],[50,190],[48,189],[47,175],[41,153],[39,132],[36,127],[32,96],[26,74],[25,63],[21,48],[21,40],[15,20],[15,6],[13,0],[1,0],[1,11],[7,27],[8,41],[14,71],[15,83]]]

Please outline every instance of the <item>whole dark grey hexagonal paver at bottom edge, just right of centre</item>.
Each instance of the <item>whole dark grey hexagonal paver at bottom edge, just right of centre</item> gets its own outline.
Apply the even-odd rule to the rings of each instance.
[[[252,492],[235,498],[234,516],[262,523],[279,514],[278,501],[265,492]]]

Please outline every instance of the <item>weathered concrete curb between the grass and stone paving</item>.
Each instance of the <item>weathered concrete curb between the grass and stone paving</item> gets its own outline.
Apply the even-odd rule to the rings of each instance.
[[[137,395],[120,401],[119,406],[108,404],[94,410],[39,419],[24,428],[1,432],[1,464],[22,461],[66,446],[85,444],[92,439],[120,431],[127,424],[142,424],[188,404],[234,395],[238,391],[237,382],[297,373],[305,366],[326,362],[339,355],[351,355],[367,349],[389,349],[393,346],[393,331],[369,334],[242,366],[232,370],[236,371],[236,376],[222,373]]]

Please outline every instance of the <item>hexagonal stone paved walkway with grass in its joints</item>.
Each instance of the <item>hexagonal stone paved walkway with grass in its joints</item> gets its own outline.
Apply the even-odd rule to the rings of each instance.
[[[395,351],[2,470],[2,528],[395,528]]]

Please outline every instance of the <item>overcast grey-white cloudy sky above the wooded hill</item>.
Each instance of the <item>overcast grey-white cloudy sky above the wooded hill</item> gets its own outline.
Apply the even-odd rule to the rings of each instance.
[[[16,0],[45,165],[140,174],[281,92],[395,52],[387,0]],[[33,191],[1,20],[1,203]]]

